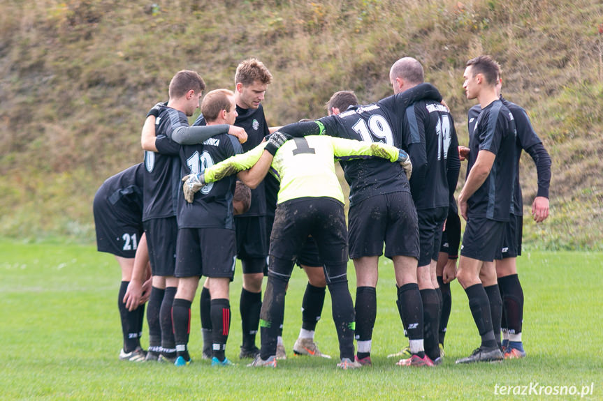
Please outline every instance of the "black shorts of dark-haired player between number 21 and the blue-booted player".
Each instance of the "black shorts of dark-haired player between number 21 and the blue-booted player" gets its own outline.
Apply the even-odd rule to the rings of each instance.
[[[174,275],[178,225],[175,217],[153,218],[143,222],[153,275]]]

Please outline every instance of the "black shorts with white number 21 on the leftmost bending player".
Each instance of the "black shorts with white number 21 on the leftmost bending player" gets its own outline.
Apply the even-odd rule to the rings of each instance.
[[[136,255],[140,236],[144,232],[143,222],[136,222],[136,219],[116,218],[115,212],[106,205],[106,202],[101,202],[99,199],[94,198],[92,208],[96,229],[96,249],[119,257],[133,258]]]

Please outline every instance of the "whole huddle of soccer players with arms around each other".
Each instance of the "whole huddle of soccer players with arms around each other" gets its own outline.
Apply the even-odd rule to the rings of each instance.
[[[491,57],[468,61],[463,77],[467,98],[479,102],[468,116],[468,147],[459,146],[441,94],[410,57],[391,66],[392,96],[358,105],[354,92],[339,91],[327,103],[328,116],[273,128],[261,105],[272,75],[260,61],[239,64],[235,91],[216,89],[203,100],[201,76],[177,73],[168,102],[147,114],[144,162],[110,177],[94,198],[98,249],[122,267],[119,358],[189,365],[191,303],[204,276],[202,355],[212,366],[233,365],[225,355],[229,287],[240,259],[239,356],[252,359],[248,366],[275,368],[286,358],[284,300],[296,264],[308,283],[293,352],[330,358],[314,342],[328,289],[337,368],[371,365],[382,255],[393,262],[408,338],[407,347],[389,355],[397,365],[442,363],[455,278],[481,336],[456,363],[525,356],[515,264],[523,224],[519,158],[525,150],[537,167],[537,222],[548,216],[551,160],[525,111],[500,96],[500,67]],[[189,126],[198,107],[201,115]],[[467,176],[457,205],[463,160]],[[347,222],[337,161],[350,188]],[[459,213],[467,220],[460,257]]]

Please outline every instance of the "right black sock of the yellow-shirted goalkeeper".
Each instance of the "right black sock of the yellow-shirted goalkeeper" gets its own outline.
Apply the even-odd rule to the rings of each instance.
[[[340,358],[354,360],[354,303],[347,287],[347,278],[328,284],[333,321],[337,329]]]

